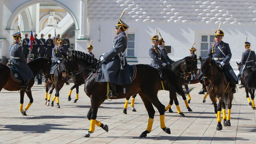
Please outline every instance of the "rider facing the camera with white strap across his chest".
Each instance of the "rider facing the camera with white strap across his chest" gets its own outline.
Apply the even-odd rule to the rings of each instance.
[[[214,45],[211,45],[208,49],[206,58],[213,58],[216,62],[220,63],[224,70],[230,74],[230,86],[232,87],[232,93],[236,93],[236,84],[238,79],[234,73],[233,68],[230,66],[229,61],[231,59],[231,51],[228,43],[224,43],[222,38],[224,32],[221,29],[215,30]]]

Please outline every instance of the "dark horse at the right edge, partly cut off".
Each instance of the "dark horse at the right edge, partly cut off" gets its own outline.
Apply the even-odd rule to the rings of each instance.
[[[241,62],[237,63],[237,66],[238,66],[238,70],[240,70],[243,67]],[[243,81],[243,84],[245,86],[246,98],[248,100],[249,105],[252,106],[253,110],[256,109],[255,108],[255,103],[254,103],[254,97],[255,97],[254,94],[255,94],[255,89],[256,89],[255,76],[256,76],[256,68],[250,67],[250,66],[246,67],[243,70],[243,73],[242,73],[242,76],[241,76],[241,81]],[[248,93],[250,93],[250,97],[252,99],[252,102],[250,101]]]

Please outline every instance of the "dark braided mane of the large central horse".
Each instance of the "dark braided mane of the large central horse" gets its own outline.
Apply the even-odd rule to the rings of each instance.
[[[93,65],[98,62],[96,58],[93,58],[89,54],[85,54],[84,52],[72,50],[69,52],[69,57],[72,57],[76,60],[82,60],[85,63],[89,63],[90,65]]]

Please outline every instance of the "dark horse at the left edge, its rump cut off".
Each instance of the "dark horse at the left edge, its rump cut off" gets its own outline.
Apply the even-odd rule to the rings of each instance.
[[[31,104],[33,103],[33,97],[32,97],[32,92],[31,88],[35,83],[35,76],[39,73],[40,71],[43,70],[43,74],[46,76],[50,73],[50,66],[52,62],[49,61],[47,58],[37,58],[33,59],[32,61],[28,62],[28,67],[32,70],[34,74],[34,78],[30,79],[28,82],[28,89],[27,90],[20,90],[21,82],[19,81],[14,81],[12,76],[11,76],[11,70],[8,66],[6,65],[0,65],[0,92],[2,88],[8,91],[17,91],[20,90],[20,113],[22,115],[27,115],[26,111],[30,108]],[[23,103],[24,103],[24,94],[28,95],[28,98],[30,99],[30,102],[28,105],[25,107],[23,110]]]

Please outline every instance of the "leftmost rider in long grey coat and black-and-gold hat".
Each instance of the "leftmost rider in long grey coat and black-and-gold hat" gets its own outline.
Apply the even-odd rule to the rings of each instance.
[[[20,32],[17,32],[13,34],[13,38],[15,42],[13,45],[9,47],[10,55],[11,55],[11,64],[14,65],[14,67],[18,70],[20,73],[20,76],[22,77],[22,83],[20,88],[22,90],[27,90],[28,80],[33,78],[33,72],[30,70],[30,68],[27,65],[27,59],[25,58],[22,47],[20,46],[20,38],[21,34]]]

